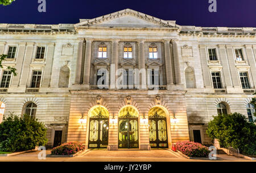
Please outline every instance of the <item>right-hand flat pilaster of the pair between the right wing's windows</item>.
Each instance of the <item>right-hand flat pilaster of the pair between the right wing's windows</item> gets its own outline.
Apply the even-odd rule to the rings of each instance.
[[[228,54],[229,68],[233,81],[234,88],[240,88],[240,79],[238,77],[238,71],[234,60],[234,51],[232,45],[226,45],[226,52]]]

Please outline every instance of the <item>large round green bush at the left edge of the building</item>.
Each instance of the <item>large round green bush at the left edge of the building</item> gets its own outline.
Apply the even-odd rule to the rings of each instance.
[[[0,151],[32,150],[46,142],[46,128],[34,117],[11,113],[0,124]]]

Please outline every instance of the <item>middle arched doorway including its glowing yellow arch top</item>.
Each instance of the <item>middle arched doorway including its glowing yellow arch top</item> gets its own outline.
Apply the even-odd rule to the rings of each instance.
[[[138,148],[139,129],[138,111],[132,107],[123,107],[118,114],[118,148]]]

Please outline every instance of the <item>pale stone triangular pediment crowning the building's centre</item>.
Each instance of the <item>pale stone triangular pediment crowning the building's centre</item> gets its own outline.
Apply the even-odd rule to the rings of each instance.
[[[108,27],[108,28],[179,28],[175,21],[166,21],[153,16],[143,14],[138,11],[126,9],[112,14],[100,16],[94,19],[81,19],[80,23],[75,24],[75,27]]]

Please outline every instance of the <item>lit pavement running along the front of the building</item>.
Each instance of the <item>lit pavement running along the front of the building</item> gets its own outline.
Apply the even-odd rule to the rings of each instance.
[[[40,151],[23,153],[10,157],[0,157],[0,162],[251,162],[251,160],[228,156],[217,155],[217,160],[187,159],[179,153],[167,149],[144,150],[88,150],[85,154],[77,157],[46,157],[38,159]],[[46,150],[46,154],[51,154]],[[255,161],[253,161],[255,162]]]

